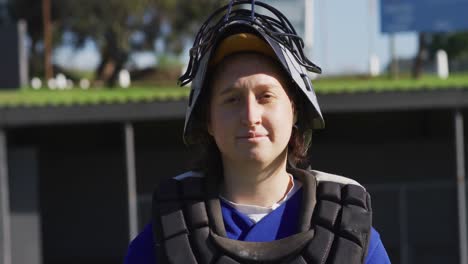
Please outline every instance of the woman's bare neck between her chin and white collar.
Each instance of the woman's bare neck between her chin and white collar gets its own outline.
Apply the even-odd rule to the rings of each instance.
[[[264,207],[280,201],[292,186],[286,172],[286,156],[287,151],[267,166],[223,159],[222,195],[235,203]]]

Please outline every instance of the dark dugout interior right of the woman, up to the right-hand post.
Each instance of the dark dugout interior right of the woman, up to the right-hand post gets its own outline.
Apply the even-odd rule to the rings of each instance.
[[[372,196],[392,263],[457,263],[454,125],[450,111],[329,115],[313,168],[354,178]]]

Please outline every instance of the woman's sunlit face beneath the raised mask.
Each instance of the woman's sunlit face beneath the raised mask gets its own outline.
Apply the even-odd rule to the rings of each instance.
[[[259,54],[227,58],[212,82],[208,132],[224,162],[268,165],[286,158],[293,104],[275,62]]]

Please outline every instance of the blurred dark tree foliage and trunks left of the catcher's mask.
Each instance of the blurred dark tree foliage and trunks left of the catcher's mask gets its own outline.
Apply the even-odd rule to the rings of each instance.
[[[214,8],[227,1],[220,0],[59,0],[52,2],[54,47],[65,33],[67,45],[80,48],[90,39],[101,54],[95,78],[113,86],[118,72],[136,50],[153,50],[154,41],[162,39],[168,51],[178,54],[187,38]],[[11,4],[13,17],[27,21],[32,42],[32,71],[42,72],[43,28],[41,1],[15,0]],[[169,32],[162,32],[162,25]],[[165,34],[162,34],[165,33]],[[140,36],[136,38],[135,36]],[[40,61],[40,60],[39,60]]]

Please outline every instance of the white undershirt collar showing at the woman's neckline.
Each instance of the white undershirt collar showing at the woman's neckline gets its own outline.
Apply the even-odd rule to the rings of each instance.
[[[293,178],[291,174],[289,174],[289,177],[292,182],[292,187],[289,189],[288,193],[278,202],[274,203],[271,206],[258,206],[258,205],[251,205],[251,204],[238,204],[232,201],[229,201],[228,199],[224,198],[223,196],[219,196],[223,201],[225,201],[227,204],[232,206],[234,209],[237,211],[245,214],[247,217],[252,220],[252,222],[257,223],[260,221],[263,217],[265,217],[267,214],[271,213],[273,210],[281,206],[283,203],[285,203],[289,198],[291,198],[301,187],[302,183],[296,179]]]

